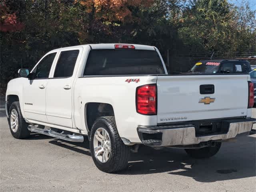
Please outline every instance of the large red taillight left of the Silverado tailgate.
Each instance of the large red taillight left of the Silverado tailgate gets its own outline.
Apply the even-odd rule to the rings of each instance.
[[[136,110],[143,115],[156,115],[156,84],[148,84],[136,89]]]

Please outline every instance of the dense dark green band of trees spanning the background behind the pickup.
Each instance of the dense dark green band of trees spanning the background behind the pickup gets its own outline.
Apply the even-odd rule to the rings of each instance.
[[[120,20],[113,12],[108,17],[106,10],[100,12],[91,2],[0,2],[1,26],[6,24],[3,22],[8,27],[16,23],[9,31],[0,28],[0,94],[18,68],[31,69],[46,52],[65,46],[148,44],[160,48],[164,58],[167,49],[171,57],[198,52],[231,57],[236,52],[256,52],[256,13],[246,2],[234,6],[228,0],[155,0],[151,6],[127,4],[130,15],[125,18],[129,19]]]

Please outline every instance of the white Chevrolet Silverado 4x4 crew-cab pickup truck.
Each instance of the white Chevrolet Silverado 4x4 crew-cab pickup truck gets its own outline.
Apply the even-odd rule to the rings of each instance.
[[[72,142],[87,135],[104,172],[126,168],[140,144],[208,158],[222,141],[256,126],[249,74],[170,75],[154,46],[60,48],[18,73],[6,92],[12,135],[37,132]]]

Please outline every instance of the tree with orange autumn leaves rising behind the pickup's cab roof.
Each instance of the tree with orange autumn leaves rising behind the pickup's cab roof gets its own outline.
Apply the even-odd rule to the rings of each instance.
[[[153,0],[75,0],[74,4],[80,4],[81,9],[86,13],[82,14],[83,17],[80,19],[82,27],[78,32],[80,43],[108,42],[107,40],[113,39],[111,36],[116,37],[116,41],[120,41],[124,33],[127,34],[127,24],[140,21],[133,10],[149,8],[153,2]]]

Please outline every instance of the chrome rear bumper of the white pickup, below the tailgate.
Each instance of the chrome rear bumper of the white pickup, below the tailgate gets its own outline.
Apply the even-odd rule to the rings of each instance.
[[[138,126],[137,131],[140,140],[148,146],[177,146],[194,145],[201,142],[227,140],[238,134],[250,132],[252,127],[256,129],[256,119],[230,119],[227,123],[227,132],[216,132],[204,136],[196,136],[196,128],[193,124],[169,125],[169,126]]]

